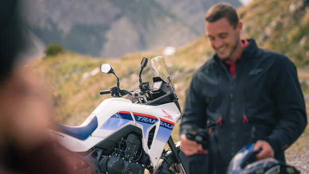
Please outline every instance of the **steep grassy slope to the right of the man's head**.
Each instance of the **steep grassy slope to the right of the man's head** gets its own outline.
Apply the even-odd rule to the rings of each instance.
[[[304,0],[254,0],[239,14],[246,38],[285,54],[298,67],[309,65],[309,8]]]

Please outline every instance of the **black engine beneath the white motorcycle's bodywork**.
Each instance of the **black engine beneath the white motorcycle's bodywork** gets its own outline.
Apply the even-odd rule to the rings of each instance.
[[[143,154],[140,137],[134,133],[121,139],[115,152],[103,156],[99,163],[102,173],[144,174],[145,168],[138,163]]]

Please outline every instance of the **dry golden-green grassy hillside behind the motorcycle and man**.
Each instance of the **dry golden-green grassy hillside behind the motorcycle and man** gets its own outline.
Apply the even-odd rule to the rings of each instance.
[[[291,58],[298,66],[304,93],[309,95],[309,8],[302,2],[254,0],[240,8],[239,14],[245,24],[244,38],[255,38],[260,47],[279,51]],[[165,57],[182,107],[194,71],[212,55],[206,36],[202,36],[177,48],[175,55]],[[30,66],[42,72],[45,78],[46,88],[54,99],[56,119],[65,124],[78,125],[96,106],[110,97],[99,95],[99,91],[116,84],[112,74],[99,72],[99,65],[108,62],[113,66],[120,78],[121,88],[138,89],[139,64],[144,56],[161,56],[161,49],[127,54],[119,59],[94,59],[66,52],[55,57],[35,59]],[[149,68],[144,70],[142,77],[150,80]],[[176,140],[178,129],[176,126],[173,131]]]

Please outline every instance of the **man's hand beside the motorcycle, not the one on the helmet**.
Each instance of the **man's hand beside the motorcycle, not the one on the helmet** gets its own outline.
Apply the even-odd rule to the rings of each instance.
[[[202,144],[189,140],[185,134],[181,134],[179,139],[182,151],[188,156],[198,153],[199,150],[203,150]]]

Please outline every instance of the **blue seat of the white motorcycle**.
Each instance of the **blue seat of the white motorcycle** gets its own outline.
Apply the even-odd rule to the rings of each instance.
[[[67,126],[60,123],[56,123],[59,129],[59,132],[65,133],[69,136],[75,137],[80,140],[85,140],[93,131],[98,127],[97,116],[94,116],[88,124],[81,126]]]

